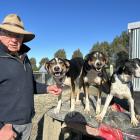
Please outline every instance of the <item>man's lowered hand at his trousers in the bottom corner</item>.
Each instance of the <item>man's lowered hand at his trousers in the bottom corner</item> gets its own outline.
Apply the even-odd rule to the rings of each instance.
[[[0,140],[15,140],[16,133],[12,129],[12,124],[5,124],[0,129]]]

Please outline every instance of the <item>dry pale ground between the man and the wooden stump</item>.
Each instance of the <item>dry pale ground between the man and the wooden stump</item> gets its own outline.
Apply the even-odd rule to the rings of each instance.
[[[93,89],[94,93],[96,89]],[[93,93],[91,89],[90,92]],[[91,93],[90,93],[91,94]],[[65,102],[70,98],[69,91],[65,92],[62,96],[62,101]],[[45,112],[48,111],[49,108],[52,108],[57,105],[57,96],[51,94],[42,94],[42,95],[35,95],[35,111],[36,114],[32,120],[32,132],[30,140],[42,140],[43,134],[43,116]]]

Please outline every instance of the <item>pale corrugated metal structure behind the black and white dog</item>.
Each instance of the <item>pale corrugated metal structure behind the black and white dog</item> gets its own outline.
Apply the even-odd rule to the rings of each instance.
[[[129,32],[129,56],[140,58],[140,22],[128,23]],[[133,81],[134,91],[140,91],[140,78]]]

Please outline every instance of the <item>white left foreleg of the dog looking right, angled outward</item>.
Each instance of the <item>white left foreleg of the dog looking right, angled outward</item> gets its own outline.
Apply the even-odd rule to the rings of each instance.
[[[108,108],[108,106],[109,106],[109,104],[110,104],[112,98],[113,98],[113,95],[112,95],[112,94],[109,94],[109,95],[107,96],[106,102],[105,102],[105,105],[104,105],[104,107],[103,107],[102,112],[101,112],[100,114],[98,114],[98,115],[95,116],[95,117],[96,117],[96,120],[97,120],[98,122],[102,122],[102,120],[103,120],[103,118],[104,118],[104,116],[105,116],[105,114],[106,114],[106,112],[107,112],[107,108]]]

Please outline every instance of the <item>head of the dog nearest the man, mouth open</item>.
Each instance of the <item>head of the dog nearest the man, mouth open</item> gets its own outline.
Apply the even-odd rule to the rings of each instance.
[[[63,78],[68,72],[70,63],[67,59],[53,58],[45,64],[45,68],[54,78]]]

